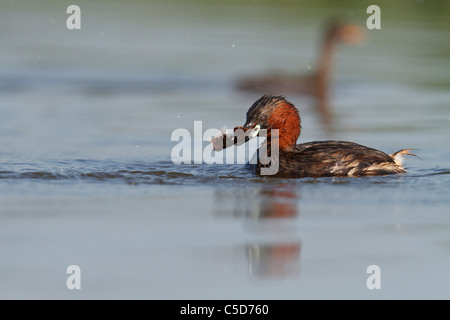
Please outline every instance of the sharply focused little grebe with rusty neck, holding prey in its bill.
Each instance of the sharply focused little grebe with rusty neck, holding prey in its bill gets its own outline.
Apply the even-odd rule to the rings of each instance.
[[[247,111],[247,120],[242,127],[246,132],[245,141],[259,135],[261,129],[267,129],[267,139],[263,143],[271,161],[278,161],[276,176],[283,177],[358,177],[386,174],[401,174],[406,170],[402,166],[404,155],[413,155],[411,149],[403,149],[391,155],[382,151],[347,141],[314,141],[296,144],[301,131],[298,110],[283,96],[263,96]],[[278,129],[278,136],[271,135],[271,129]],[[250,134],[249,134],[250,133]],[[214,150],[239,144],[234,136],[229,143],[229,135],[219,135],[211,140]],[[245,142],[244,141],[244,142]],[[270,155],[271,149],[278,147],[278,154]],[[270,167],[260,161],[257,152],[256,172]],[[275,149],[276,150],[276,149]],[[266,164],[263,164],[266,163]]]

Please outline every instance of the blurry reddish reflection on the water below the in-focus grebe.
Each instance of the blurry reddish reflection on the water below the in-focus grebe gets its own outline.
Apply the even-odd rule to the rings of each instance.
[[[245,228],[264,240],[248,242],[244,254],[248,272],[258,278],[285,278],[299,273],[301,243],[292,219],[298,216],[298,190],[294,185],[258,189],[220,190],[216,193],[218,216],[244,219]],[[230,203],[230,199],[234,199]],[[222,206],[221,206],[222,204]],[[231,207],[227,207],[231,206]]]

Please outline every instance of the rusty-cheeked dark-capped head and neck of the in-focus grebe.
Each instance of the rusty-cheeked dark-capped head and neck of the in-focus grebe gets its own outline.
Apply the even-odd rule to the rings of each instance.
[[[253,130],[250,138],[256,137],[261,129],[268,130],[268,137],[271,129],[278,129],[280,150],[291,150],[300,135],[301,120],[298,110],[283,96],[265,95],[248,109],[247,120],[242,128]]]

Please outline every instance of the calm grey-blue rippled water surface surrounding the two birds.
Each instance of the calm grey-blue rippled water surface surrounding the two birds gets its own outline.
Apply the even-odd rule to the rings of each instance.
[[[288,96],[299,141],[420,157],[321,179],[177,166],[171,134],[243,124],[260,95],[236,79],[314,68],[324,19],[365,26],[359,2],[78,1],[78,31],[69,4],[0,4],[0,298],[450,298],[447,2],[381,2],[382,29],[338,47],[331,131]]]

